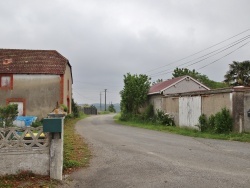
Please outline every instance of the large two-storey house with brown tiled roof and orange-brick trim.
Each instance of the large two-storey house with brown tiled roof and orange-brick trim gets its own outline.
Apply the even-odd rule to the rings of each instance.
[[[0,49],[0,105],[18,104],[19,115],[46,117],[56,104],[71,113],[72,69],[55,50]]]

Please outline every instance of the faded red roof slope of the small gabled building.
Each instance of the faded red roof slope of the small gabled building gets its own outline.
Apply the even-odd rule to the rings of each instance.
[[[157,83],[157,84],[153,85],[150,88],[148,94],[154,94],[154,93],[159,93],[160,94],[161,91],[163,91],[164,89],[168,88],[172,84],[177,83],[178,81],[182,80],[185,77],[186,76],[181,76],[181,77],[173,78],[171,80],[166,80],[166,81]]]

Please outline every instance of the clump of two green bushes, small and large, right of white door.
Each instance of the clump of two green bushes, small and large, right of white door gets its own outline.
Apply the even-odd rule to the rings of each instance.
[[[199,125],[197,125],[201,132],[223,133],[228,134],[233,130],[233,118],[228,109],[223,108],[215,115],[209,118],[205,114],[199,117]]]

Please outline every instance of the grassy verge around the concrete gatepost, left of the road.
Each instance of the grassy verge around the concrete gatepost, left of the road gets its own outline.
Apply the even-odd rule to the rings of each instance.
[[[77,168],[85,167],[91,157],[88,145],[82,137],[75,132],[75,124],[80,118],[67,118],[64,124],[64,173],[70,173]],[[0,187],[6,188],[53,188],[59,181],[51,180],[49,176],[33,174],[30,171],[22,171],[16,175],[0,176]]]

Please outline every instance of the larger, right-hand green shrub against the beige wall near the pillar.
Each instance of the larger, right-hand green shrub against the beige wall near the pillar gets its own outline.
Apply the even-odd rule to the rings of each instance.
[[[233,130],[233,118],[229,110],[223,108],[221,112],[215,114],[214,130],[216,133],[229,133]]]

